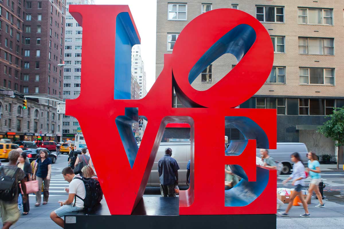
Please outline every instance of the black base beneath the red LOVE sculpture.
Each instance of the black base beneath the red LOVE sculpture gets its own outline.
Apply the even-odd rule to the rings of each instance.
[[[179,215],[178,197],[143,197],[132,215],[110,215],[103,201],[93,214],[65,216],[65,229],[276,229],[276,215]]]

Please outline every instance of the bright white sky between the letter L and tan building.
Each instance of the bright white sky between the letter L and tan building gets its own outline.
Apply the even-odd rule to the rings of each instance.
[[[155,82],[156,0],[95,0],[99,5],[129,5],[141,37],[141,57],[147,76],[147,91]]]

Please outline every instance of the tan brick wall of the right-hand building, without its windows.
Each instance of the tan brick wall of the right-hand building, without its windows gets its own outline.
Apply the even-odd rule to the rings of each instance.
[[[186,21],[167,20],[168,3],[187,3]],[[156,78],[163,68],[163,54],[167,51],[167,34],[180,33],[184,26],[196,16],[201,14],[204,1],[167,1],[158,0],[157,3],[157,52],[156,52]],[[241,1],[207,1],[212,3],[212,9],[232,8],[238,4],[238,9],[256,17],[256,5],[272,5],[284,7],[284,23],[263,23],[270,35],[285,36],[285,53],[275,53],[274,66],[286,67],[286,83],[266,83],[256,95],[266,96],[329,96],[344,97],[344,2],[341,1],[283,1],[283,0],[241,0]],[[333,25],[298,24],[298,7],[329,8],[333,9]],[[334,55],[303,55],[299,54],[298,37],[324,37],[334,38]],[[198,77],[192,86],[197,90],[206,90],[232,69],[236,59],[226,54],[213,63],[212,82],[201,82]],[[321,67],[335,69],[334,85],[304,85],[299,83],[299,67]],[[244,80],[243,80],[244,81]]]

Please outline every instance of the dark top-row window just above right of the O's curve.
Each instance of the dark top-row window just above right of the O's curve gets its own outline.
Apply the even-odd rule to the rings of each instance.
[[[284,7],[257,6],[256,18],[261,22],[284,22]]]

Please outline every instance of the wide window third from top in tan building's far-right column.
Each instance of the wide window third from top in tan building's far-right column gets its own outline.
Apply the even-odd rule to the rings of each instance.
[[[334,69],[300,68],[300,83],[334,85]]]

